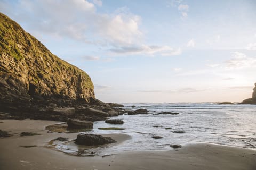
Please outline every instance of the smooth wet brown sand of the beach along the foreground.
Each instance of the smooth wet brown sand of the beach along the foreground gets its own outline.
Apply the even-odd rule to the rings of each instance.
[[[47,133],[45,126],[55,121],[0,120],[0,129],[12,137],[0,138],[0,169],[256,169],[256,151],[237,147],[191,144],[169,151],[122,152],[106,157],[78,157],[44,147],[57,137],[75,139],[77,134]],[[20,137],[21,132],[42,135]],[[119,145],[129,139],[111,134]],[[36,145],[37,147],[19,147]]]

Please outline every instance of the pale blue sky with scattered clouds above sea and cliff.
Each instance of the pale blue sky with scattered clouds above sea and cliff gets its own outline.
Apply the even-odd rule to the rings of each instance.
[[[256,82],[254,0],[0,0],[105,102],[239,102]]]

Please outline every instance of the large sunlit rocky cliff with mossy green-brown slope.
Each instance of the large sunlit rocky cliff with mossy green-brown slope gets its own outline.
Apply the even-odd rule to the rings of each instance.
[[[0,112],[33,103],[72,105],[95,98],[89,75],[53,55],[2,13],[0,56]]]

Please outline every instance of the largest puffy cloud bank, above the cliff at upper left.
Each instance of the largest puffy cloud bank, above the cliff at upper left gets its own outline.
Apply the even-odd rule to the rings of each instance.
[[[93,1],[100,6],[102,2]],[[138,42],[140,16],[127,10],[99,13],[95,5],[85,0],[74,1],[17,1],[1,3],[0,10],[34,35],[71,38],[85,43],[127,45]],[[13,12],[15,11],[15,12]]]

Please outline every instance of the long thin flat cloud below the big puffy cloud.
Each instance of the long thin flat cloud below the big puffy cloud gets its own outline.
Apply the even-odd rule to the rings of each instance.
[[[170,46],[123,46],[118,48],[110,49],[110,52],[116,54],[125,54],[125,55],[133,55],[133,54],[141,54],[141,55],[161,55],[161,56],[172,56],[172,55],[180,55],[181,48],[175,49]]]

